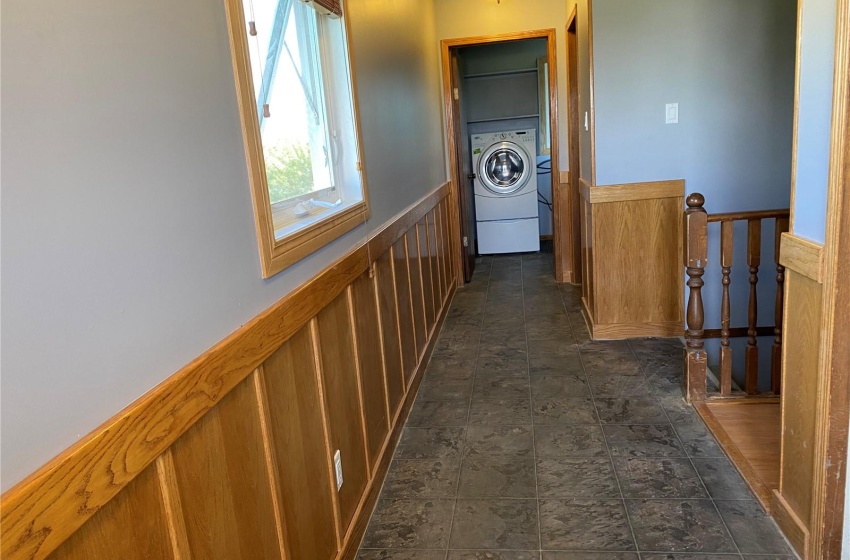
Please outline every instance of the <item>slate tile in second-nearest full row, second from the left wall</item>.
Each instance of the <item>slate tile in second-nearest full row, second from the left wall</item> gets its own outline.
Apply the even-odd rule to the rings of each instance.
[[[534,457],[476,455],[463,460],[458,496],[537,498]]]

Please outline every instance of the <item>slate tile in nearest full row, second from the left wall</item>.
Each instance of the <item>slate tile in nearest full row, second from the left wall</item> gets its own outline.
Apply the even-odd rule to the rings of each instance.
[[[458,499],[449,548],[538,549],[537,500]]]

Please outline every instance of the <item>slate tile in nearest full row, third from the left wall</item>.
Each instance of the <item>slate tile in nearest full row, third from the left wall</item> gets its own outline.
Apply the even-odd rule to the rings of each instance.
[[[635,550],[620,500],[541,500],[540,540],[548,550]]]

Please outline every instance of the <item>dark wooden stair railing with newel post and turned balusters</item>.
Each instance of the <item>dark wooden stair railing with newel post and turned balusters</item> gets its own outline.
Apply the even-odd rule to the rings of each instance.
[[[758,210],[753,212],[727,212],[708,214],[705,211],[705,197],[700,193],[688,196],[684,213],[684,266],[688,275],[688,305],[686,314],[684,360],[684,392],[689,402],[705,401],[709,398],[729,398],[739,396],[776,396],[782,387],[782,303],[785,286],[785,268],[779,264],[779,241],[783,232],[788,231],[788,209]],[[774,227],[773,261],[776,265],[776,295],[774,326],[758,326],[758,273],[761,265],[762,221],[776,220]],[[747,307],[747,326],[731,326],[731,303],[729,285],[731,284],[733,230],[737,221],[747,222],[747,266],[749,267],[750,294]],[[720,300],[720,328],[705,329],[705,308],[702,288],[703,276],[708,264],[708,224],[720,222],[720,266],[722,296]],[[758,387],[759,353],[758,336],[773,335],[771,349],[771,389],[761,393]],[[746,337],[744,350],[744,388],[733,391],[732,386],[732,338]],[[709,370],[705,350],[705,340],[720,339],[720,378],[719,392],[709,394],[707,389]]]

